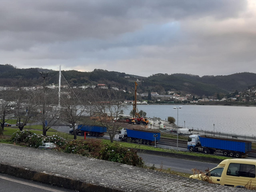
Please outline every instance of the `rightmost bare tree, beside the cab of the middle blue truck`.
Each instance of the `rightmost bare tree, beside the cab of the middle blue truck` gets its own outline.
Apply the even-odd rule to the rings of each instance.
[[[90,100],[96,108],[97,121],[107,128],[110,141],[113,142],[116,131],[122,126],[118,118],[126,108],[123,92],[98,88],[91,91]]]

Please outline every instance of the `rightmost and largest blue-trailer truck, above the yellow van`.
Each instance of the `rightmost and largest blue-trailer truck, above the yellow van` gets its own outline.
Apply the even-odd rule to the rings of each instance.
[[[216,138],[202,135],[190,135],[188,150],[203,153],[222,153],[224,156],[241,158],[248,156],[252,142],[236,139]]]

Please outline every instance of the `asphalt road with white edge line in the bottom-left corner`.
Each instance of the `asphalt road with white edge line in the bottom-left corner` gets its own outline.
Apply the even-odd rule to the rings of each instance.
[[[0,184],[0,192],[74,192],[50,184],[42,184],[1,173]]]

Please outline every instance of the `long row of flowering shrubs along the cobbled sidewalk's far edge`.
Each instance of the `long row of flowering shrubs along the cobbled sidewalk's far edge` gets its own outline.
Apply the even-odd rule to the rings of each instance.
[[[38,148],[42,143],[50,142],[58,146],[57,150],[66,153],[144,167],[144,162],[142,158],[137,155],[136,150],[118,144],[104,144],[102,141],[96,139],[86,139],[86,141],[72,140],[66,142],[64,138],[57,135],[44,137],[43,135],[37,135],[31,131],[23,130],[16,131],[12,135],[11,140],[16,143],[25,143],[27,146],[34,148]]]

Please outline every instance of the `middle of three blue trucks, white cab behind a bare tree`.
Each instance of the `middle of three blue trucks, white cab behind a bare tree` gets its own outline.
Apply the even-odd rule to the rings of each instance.
[[[122,130],[119,131],[119,139],[121,141],[152,145],[155,144],[155,141],[157,144],[160,140],[160,131],[122,128]]]

